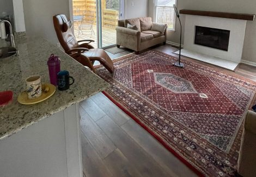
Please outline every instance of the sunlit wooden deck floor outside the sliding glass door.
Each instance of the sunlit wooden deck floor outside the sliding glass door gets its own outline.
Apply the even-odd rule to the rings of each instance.
[[[92,46],[94,46],[95,48],[97,48],[97,29],[96,29],[96,25],[93,25],[93,30],[94,33],[92,33],[92,38],[90,38],[90,33],[91,30],[83,30],[83,34],[79,34],[78,35],[78,25],[74,26],[74,33],[76,36],[77,40],[83,40],[83,39],[92,39],[95,40],[95,42],[92,42],[90,44],[92,44]],[[111,29],[111,28],[105,28],[102,27],[102,47],[106,47],[109,45],[113,45],[116,44],[116,33],[115,33],[115,29]]]

